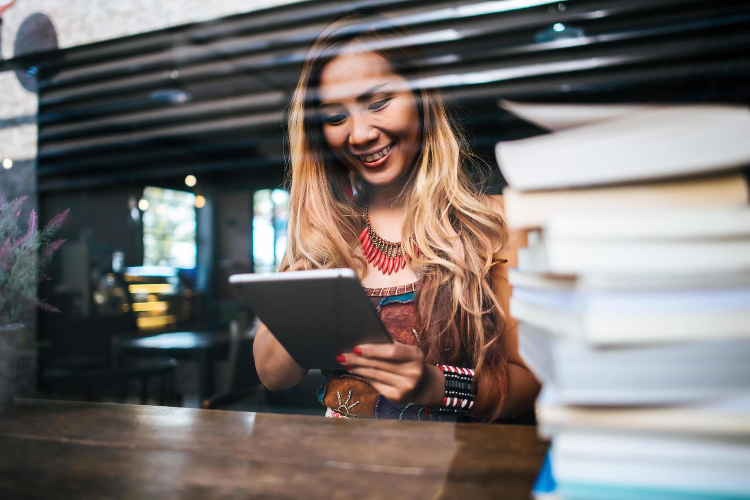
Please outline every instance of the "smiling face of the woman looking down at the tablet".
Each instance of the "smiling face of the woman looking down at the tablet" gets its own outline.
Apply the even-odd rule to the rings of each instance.
[[[345,50],[320,75],[323,136],[374,186],[404,181],[419,150],[419,109],[407,79],[375,52]]]

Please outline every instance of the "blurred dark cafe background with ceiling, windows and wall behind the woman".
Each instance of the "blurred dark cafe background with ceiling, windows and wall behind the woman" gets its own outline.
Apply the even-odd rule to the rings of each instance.
[[[24,322],[18,396],[322,414],[320,374],[258,387],[254,315],[227,278],[278,268],[284,107],[317,34],[371,3],[0,0],[0,190],[30,196],[23,220],[71,209],[39,290],[62,312]],[[500,98],[750,95],[745,1],[377,4],[410,26],[489,166],[499,140],[543,132]]]

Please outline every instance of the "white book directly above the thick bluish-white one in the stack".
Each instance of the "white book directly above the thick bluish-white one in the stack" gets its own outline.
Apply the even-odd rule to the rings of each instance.
[[[592,345],[750,338],[750,288],[566,291],[514,286],[515,319]]]

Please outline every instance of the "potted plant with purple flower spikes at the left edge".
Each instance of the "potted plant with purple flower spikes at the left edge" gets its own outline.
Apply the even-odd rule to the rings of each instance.
[[[68,210],[57,214],[43,229],[34,210],[28,215],[28,229],[19,227],[23,198],[8,201],[0,192],[0,416],[10,411],[16,389],[16,360],[27,307],[59,312],[37,298],[37,283],[46,279],[44,265],[65,240],[52,241]]]

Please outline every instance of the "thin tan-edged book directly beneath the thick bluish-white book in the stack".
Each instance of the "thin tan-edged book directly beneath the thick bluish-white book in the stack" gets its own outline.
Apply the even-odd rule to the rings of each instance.
[[[535,408],[537,429],[545,439],[563,430],[750,439],[750,388],[674,406],[623,408],[568,405],[554,385],[545,384]]]

